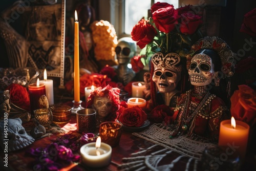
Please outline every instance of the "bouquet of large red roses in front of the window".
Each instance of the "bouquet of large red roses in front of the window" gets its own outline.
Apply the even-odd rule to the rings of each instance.
[[[202,17],[195,14],[193,6],[176,10],[173,5],[158,2],[151,7],[151,11],[152,17],[141,19],[131,33],[137,45],[145,48],[146,62],[157,52],[163,55],[188,52],[193,42],[203,37],[198,30],[203,23]]]

